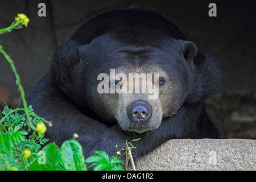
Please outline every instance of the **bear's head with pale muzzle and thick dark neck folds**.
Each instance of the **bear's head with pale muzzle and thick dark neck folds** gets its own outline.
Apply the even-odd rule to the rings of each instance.
[[[81,30],[87,26],[82,26],[53,55],[51,75],[82,113],[107,126],[118,123],[122,130],[144,133],[184,105],[212,96],[219,71],[180,32],[172,36],[158,26],[131,24],[108,27],[111,31],[97,36],[85,35]]]

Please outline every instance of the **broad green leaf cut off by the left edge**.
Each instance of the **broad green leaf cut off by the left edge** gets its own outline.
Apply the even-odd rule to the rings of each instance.
[[[14,140],[8,134],[0,131],[0,152],[7,152],[15,148]]]

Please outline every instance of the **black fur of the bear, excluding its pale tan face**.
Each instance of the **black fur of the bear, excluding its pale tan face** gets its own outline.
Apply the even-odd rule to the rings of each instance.
[[[112,36],[109,36],[110,34]],[[100,36],[102,38],[99,38]],[[106,52],[111,52],[112,49],[123,44],[130,45],[133,49],[135,47],[138,49],[140,46],[164,49],[164,44],[169,44],[167,39],[174,42],[171,45],[181,45],[177,40],[187,40],[170,20],[151,10],[105,11],[82,24],[71,38],[56,49],[51,70],[27,97],[28,104],[32,105],[36,114],[48,121],[53,121],[53,126],[47,127],[46,137],[61,145],[77,133],[79,135],[77,140],[81,143],[85,156],[92,155],[95,150],[104,150],[110,155],[115,155],[116,144],[120,149],[125,147],[126,140],[129,142],[138,138],[141,140],[134,142],[134,146],[137,147],[133,150],[134,156],[142,156],[168,139],[220,138],[221,135],[210,121],[203,104],[203,100],[213,96],[216,91],[220,70],[212,59],[196,52],[196,47],[192,43],[185,44],[192,45],[193,50],[191,53],[189,48],[184,47],[182,59],[191,57],[193,60],[189,63],[182,62],[181,66],[179,65],[180,72],[177,72],[180,77],[184,78],[179,82],[183,82],[185,88],[188,89],[174,88],[174,93],[184,92],[184,98],[182,97],[183,100],[179,102],[180,107],[175,107],[176,113],[172,112],[170,117],[163,117],[157,129],[143,133],[123,131],[116,119],[102,117],[101,111],[102,113],[108,112],[105,105],[92,104],[98,97],[96,93],[90,94],[94,92],[93,83],[97,83],[98,73],[104,70],[109,72],[110,68],[125,66],[125,63],[118,61],[118,56],[112,57],[113,59],[106,57],[105,61],[108,61],[108,66],[102,66],[105,63],[103,63],[104,59],[100,58],[104,57]],[[86,46],[94,40],[101,43],[95,43],[96,46]],[[102,44],[105,46],[104,50],[102,47],[97,48],[97,45],[102,46]],[[179,56],[179,53],[175,52],[177,47],[179,46],[172,48],[174,56]],[[187,49],[190,52],[185,52]],[[193,52],[196,53],[195,56]],[[135,56],[138,55],[137,52]],[[159,64],[152,62],[151,65],[167,72],[168,69],[170,72],[174,69],[173,64],[162,61],[163,63]],[[186,68],[181,68],[183,65]],[[88,82],[90,84],[87,84]],[[96,103],[98,102],[100,101]],[[181,102],[183,105],[180,105]]]

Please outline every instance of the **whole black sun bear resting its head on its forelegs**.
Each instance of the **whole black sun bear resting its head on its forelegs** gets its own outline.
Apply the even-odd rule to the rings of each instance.
[[[57,47],[27,102],[52,121],[51,142],[61,145],[76,133],[87,157],[96,150],[116,155],[116,145],[141,138],[133,143],[138,157],[169,139],[220,138],[203,103],[219,80],[213,59],[165,16],[113,9]]]

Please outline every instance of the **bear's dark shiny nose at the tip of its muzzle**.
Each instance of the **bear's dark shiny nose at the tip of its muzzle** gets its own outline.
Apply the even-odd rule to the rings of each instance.
[[[147,122],[152,115],[152,106],[144,101],[135,101],[127,107],[127,114],[130,121]]]

